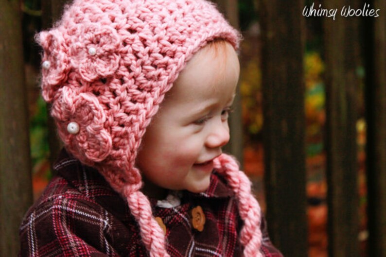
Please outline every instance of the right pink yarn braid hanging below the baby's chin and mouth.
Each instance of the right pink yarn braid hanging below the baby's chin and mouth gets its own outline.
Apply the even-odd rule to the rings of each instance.
[[[245,257],[262,257],[260,247],[262,232],[260,230],[261,208],[251,193],[251,182],[232,156],[221,154],[214,160],[214,168],[223,173],[230,188],[238,199],[239,214],[244,221],[240,232],[240,242],[244,245]]]

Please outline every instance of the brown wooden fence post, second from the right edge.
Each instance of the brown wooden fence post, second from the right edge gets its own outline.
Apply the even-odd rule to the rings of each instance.
[[[359,198],[356,144],[358,27],[355,17],[342,17],[341,8],[358,1],[326,0],[338,8],[335,20],[324,21],[326,63],[326,154],[329,256],[359,256]]]

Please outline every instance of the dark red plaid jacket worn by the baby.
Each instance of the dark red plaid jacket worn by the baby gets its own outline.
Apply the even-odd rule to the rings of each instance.
[[[20,226],[20,256],[148,256],[139,226],[129,208],[96,170],[82,165],[65,151],[53,178]],[[216,173],[204,193],[184,192],[181,205],[153,213],[167,227],[167,251],[172,257],[241,256],[238,231],[242,222],[233,192]],[[189,210],[201,206],[204,230],[192,229]],[[265,257],[281,257],[262,223]]]

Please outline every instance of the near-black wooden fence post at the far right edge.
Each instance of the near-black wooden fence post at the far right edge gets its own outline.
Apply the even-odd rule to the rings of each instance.
[[[366,41],[368,256],[386,257],[386,1],[368,17]]]

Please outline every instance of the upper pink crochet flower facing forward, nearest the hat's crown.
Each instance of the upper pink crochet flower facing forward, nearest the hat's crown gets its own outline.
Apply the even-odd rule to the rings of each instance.
[[[121,59],[117,31],[99,24],[85,26],[81,31],[80,38],[71,43],[71,66],[88,82],[112,75]]]

